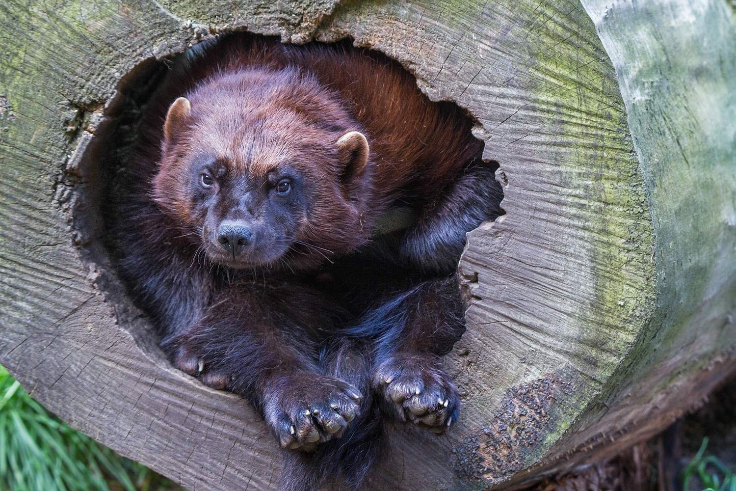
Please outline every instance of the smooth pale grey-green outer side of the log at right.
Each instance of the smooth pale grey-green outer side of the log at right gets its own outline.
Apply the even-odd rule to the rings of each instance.
[[[729,350],[736,344],[729,321],[736,311],[734,15],[722,0],[583,3],[615,54],[657,237],[657,305],[631,367]]]

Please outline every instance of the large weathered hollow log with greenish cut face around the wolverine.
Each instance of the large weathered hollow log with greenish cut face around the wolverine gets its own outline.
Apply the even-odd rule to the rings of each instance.
[[[659,431],[736,369],[736,15],[726,0],[4,0],[0,363],[191,489],[276,445],[174,370],[102,244],[97,133],[146,63],[221,32],[352,38],[476,121],[506,215],[468,234],[461,422],[395,428],[368,489],[517,487]]]

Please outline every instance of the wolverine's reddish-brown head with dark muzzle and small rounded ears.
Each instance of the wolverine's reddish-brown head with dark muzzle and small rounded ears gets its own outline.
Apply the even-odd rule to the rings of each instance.
[[[368,142],[294,69],[219,74],[169,107],[155,201],[235,268],[314,266],[367,240]]]

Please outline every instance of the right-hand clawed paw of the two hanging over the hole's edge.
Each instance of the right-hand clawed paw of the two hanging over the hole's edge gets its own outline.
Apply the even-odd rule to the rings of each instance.
[[[460,398],[437,356],[396,353],[378,366],[372,381],[403,421],[429,427],[438,434],[457,421]]]

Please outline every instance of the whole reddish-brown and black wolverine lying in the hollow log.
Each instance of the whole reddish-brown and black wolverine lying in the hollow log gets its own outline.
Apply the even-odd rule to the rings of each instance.
[[[464,331],[465,233],[501,211],[472,121],[346,44],[228,35],[181,55],[108,213],[174,367],[240,394],[280,487],[358,487],[386,421],[442,433]]]

